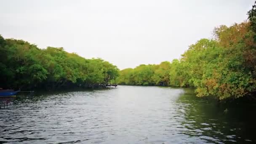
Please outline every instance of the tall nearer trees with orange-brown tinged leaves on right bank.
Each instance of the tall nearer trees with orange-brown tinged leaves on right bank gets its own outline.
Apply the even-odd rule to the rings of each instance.
[[[170,85],[195,87],[197,96],[218,99],[253,93],[256,53],[249,22],[217,27],[214,35],[215,40],[199,40],[172,62]]]

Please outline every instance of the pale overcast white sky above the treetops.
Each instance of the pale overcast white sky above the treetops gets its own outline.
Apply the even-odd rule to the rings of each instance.
[[[0,35],[63,47],[119,69],[179,59],[214,27],[247,19],[254,0],[1,0]]]

